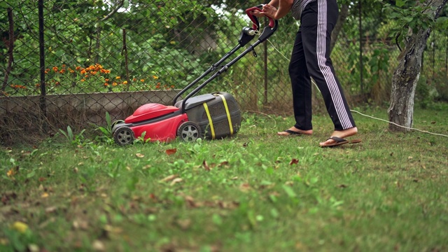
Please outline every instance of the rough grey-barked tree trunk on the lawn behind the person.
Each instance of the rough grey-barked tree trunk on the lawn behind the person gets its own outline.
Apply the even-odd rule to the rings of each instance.
[[[447,1],[426,0],[423,4],[436,7],[434,17],[437,18]],[[430,29],[419,29],[416,34],[412,34],[398,57],[399,64],[393,73],[391,104],[388,108],[391,122],[389,130],[393,132],[407,132],[412,127],[415,88],[419,81],[423,50],[429,34]]]

